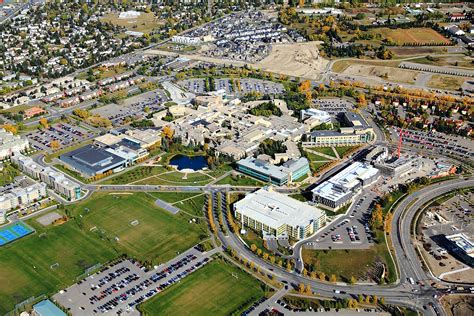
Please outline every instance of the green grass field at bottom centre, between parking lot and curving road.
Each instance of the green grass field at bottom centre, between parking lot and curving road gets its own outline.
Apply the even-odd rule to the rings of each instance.
[[[237,315],[265,295],[264,285],[215,259],[140,306],[143,315]]]

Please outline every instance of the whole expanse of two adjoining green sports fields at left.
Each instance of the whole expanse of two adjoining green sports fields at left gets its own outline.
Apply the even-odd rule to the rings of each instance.
[[[145,193],[96,193],[67,206],[75,219],[65,224],[43,227],[35,219],[27,221],[36,233],[0,247],[0,315],[31,296],[54,294],[85,269],[120,254],[165,262],[207,238],[204,222],[190,224],[190,216],[172,215],[154,201]]]

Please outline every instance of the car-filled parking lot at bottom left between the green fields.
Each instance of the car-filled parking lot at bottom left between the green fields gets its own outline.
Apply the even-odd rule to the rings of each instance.
[[[54,295],[72,315],[123,313],[139,315],[136,306],[207,264],[216,250],[192,248],[166,264],[148,270],[123,259]]]

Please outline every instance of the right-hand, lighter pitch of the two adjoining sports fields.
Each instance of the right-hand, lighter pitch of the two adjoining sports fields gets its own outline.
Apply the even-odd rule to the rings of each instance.
[[[76,204],[74,214],[81,214],[84,230],[104,238],[109,246],[141,260],[162,263],[207,237],[205,227],[189,224],[189,216],[172,215],[154,205],[145,193],[97,193]],[[86,209],[89,209],[87,211]],[[131,222],[137,220],[138,225]],[[115,237],[119,240],[116,241]]]

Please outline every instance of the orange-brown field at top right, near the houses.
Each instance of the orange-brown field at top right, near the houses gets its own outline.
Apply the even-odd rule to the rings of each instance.
[[[428,27],[417,27],[409,29],[391,29],[388,27],[372,29],[369,32],[382,34],[386,38],[398,45],[403,44],[448,44],[450,41],[435,30]]]

